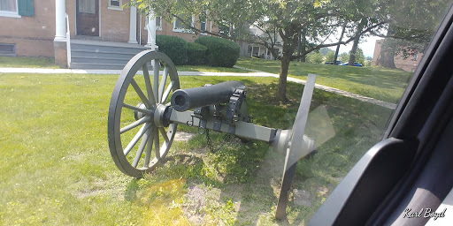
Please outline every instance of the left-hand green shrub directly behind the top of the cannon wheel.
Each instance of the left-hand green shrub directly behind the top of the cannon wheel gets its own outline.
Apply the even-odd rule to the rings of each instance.
[[[169,56],[174,64],[181,65],[188,62],[187,41],[176,36],[156,35],[156,44],[159,51]]]

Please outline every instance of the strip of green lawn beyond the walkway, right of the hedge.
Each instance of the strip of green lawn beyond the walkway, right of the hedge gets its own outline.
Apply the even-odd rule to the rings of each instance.
[[[263,72],[280,73],[280,61],[241,57],[236,65]],[[411,72],[399,69],[303,62],[289,64],[289,77],[306,79],[308,73],[318,75],[316,83],[320,85],[393,103],[398,102],[411,77]]]

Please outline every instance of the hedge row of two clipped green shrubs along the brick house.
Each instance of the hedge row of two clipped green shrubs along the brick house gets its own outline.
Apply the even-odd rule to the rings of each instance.
[[[233,67],[239,58],[240,47],[226,39],[201,36],[195,42],[187,42],[175,36],[157,35],[159,51],[169,56],[174,64],[208,64]]]

